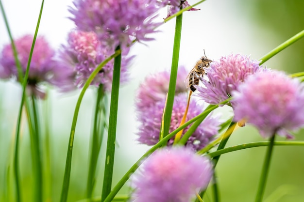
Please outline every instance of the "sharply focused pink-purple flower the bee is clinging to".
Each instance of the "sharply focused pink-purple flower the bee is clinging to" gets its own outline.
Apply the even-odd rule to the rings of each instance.
[[[197,86],[197,94],[205,102],[219,104],[231,96],[244,80],[256,72],[268,71],[248,56],[236,54],[220,58],[210,63],[206,69],[208,81],[202,79],[204,86]]]

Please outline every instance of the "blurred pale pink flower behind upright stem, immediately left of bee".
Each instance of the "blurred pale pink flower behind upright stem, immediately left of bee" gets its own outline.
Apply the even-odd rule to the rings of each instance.
[[[184,81],[188,70],[184,66],[180,66],[177,72],[175,93],[187,93]],[[144,111],[146,108],[153,106],[157,101],[164,101],[166,93],[169,90],[170,72],[157,72],[140,84],[136,96],[136,107],[139,111]]]

